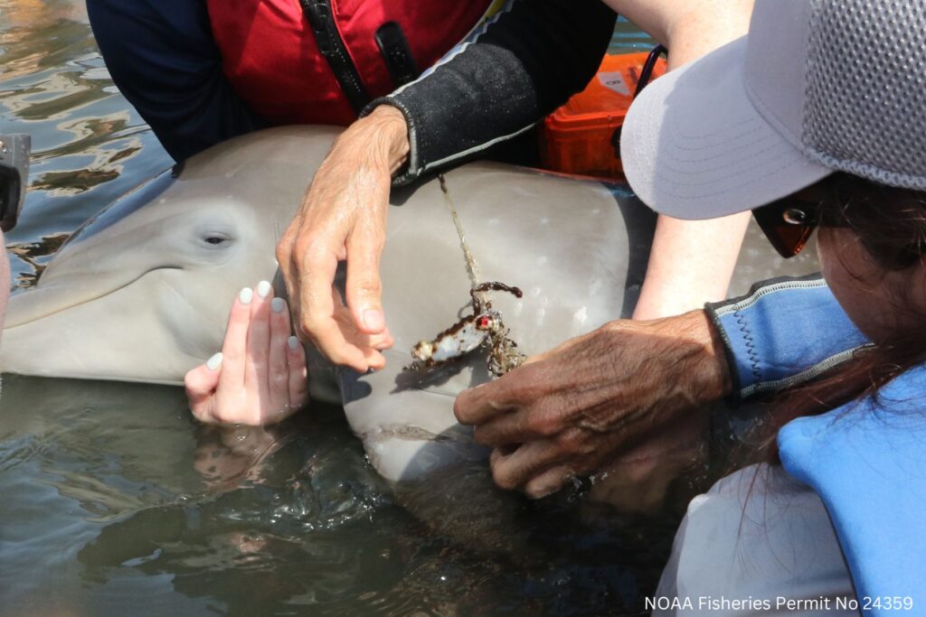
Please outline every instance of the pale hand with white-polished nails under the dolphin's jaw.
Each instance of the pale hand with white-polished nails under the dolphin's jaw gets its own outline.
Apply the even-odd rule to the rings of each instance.
[[[222,351],[184,379],[200,422],[266,425],[308,400],[306,352],[290,336],[289,312],[269,282],[244,288],[232,304]]]

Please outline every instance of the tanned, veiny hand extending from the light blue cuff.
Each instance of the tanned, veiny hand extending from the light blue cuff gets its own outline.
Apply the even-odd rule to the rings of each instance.
[[[703,311],[614,321],[460,393],[457,420],[494,448],[500,487],[542,497],[730,389]]]

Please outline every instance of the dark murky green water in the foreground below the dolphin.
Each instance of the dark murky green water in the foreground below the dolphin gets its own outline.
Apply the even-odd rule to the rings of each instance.
[[[57,586],[82,614],[178,596],[230,614],[627,614],[677,522],[532,503],[484,466],[394,493],[335,408],[265,431],[197,426],[172,388],[8,376],[3,394],[0,576],[18,584],[0,607]]]

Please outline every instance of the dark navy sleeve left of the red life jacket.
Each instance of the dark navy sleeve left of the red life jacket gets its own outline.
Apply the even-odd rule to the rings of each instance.
[[[87,0],[106,68],[175,160],[267,126],[226,80],[206,3]]]

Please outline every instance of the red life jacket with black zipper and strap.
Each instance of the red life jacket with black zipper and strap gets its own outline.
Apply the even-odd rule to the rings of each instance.
[[[275,124],[347,125],[444,56],[492,0],[206,4],[225,76],[258,114]]]

